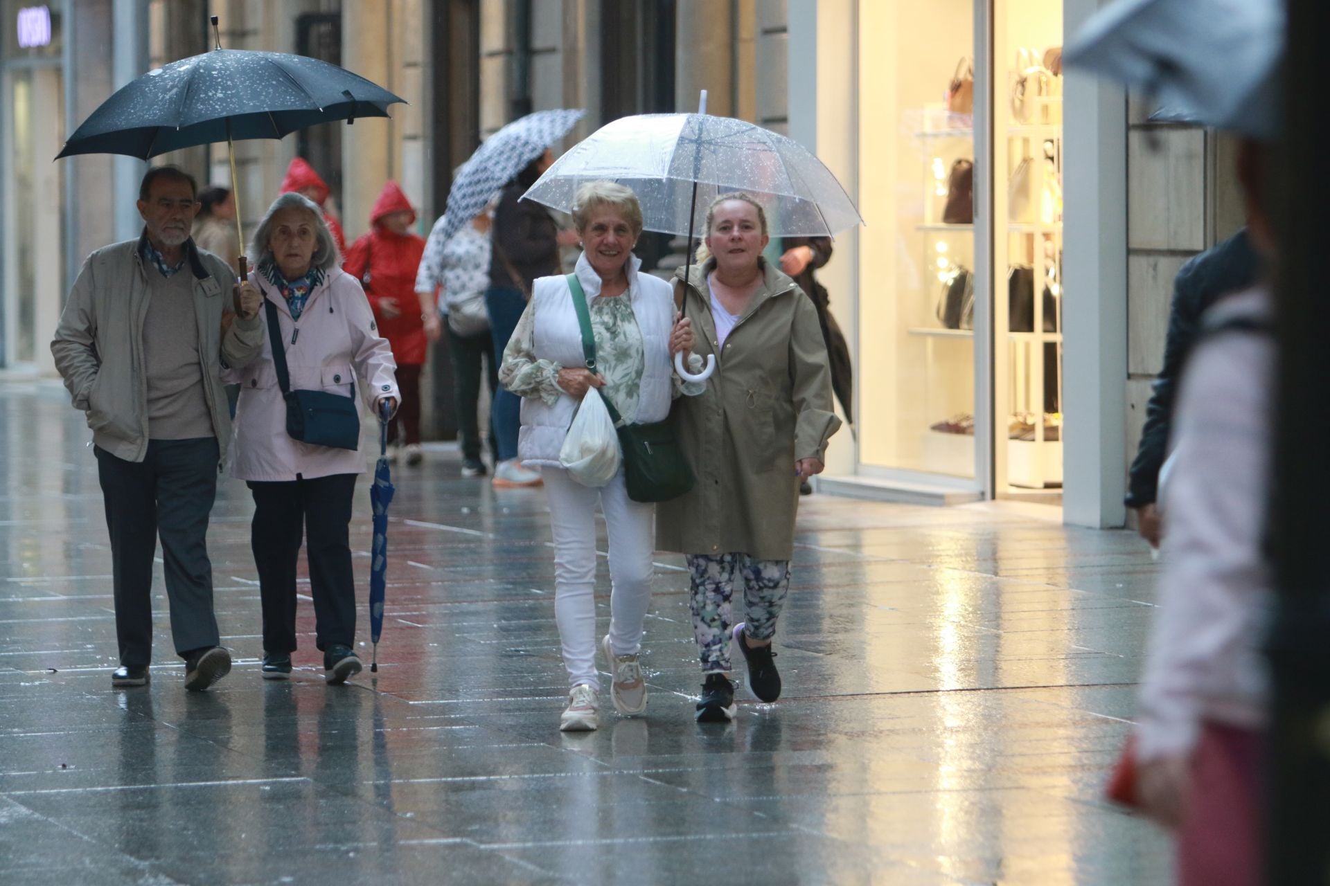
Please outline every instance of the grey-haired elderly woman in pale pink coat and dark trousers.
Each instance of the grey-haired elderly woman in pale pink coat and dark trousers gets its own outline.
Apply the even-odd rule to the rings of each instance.
[[[265,323],[277,317],[291,391],[350,396],[356,410],[396,409],[396,364],[378,333],[360,283],[339,267],[332,235],[318,206],[282,194],[259,222],[250,246],[258,256],[250,282],[266,300]],[[233,367],[241,385],[230,473],[254,494],[251,545],[263,602],[263,677],[286,679],[295,651],[295,565],[309,541],[315,642],[330,684],[360,671],[355,642],[355,579],[350,523],[360,452],[294,440],[273,361],[271,327],[262,355]]]

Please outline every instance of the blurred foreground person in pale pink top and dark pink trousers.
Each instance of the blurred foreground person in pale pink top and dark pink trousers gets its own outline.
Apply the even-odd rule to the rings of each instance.
[[[1238,158],[1248,236],[1275,254],[1266,214],[1270,147]],[[1261,882],[1269,675],[1261,642],[1274,602],[1262,550],[1275,348],[1266,275],[1218,300],[1182,373],[1160,486],[1158,614],[1136,725],[1136,796],[1177,832],[1178,882]]]

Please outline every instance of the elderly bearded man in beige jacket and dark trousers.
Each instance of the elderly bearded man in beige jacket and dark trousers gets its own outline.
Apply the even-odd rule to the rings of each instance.
[[[218,646],[207,518],[231,436],[222,365],[263,345],[258,291],[194,247],[197,186],[173,166],[150,169],[138,194],[144,232],[84,262],[51,352],[74,408],[88,414],[114,575],[120,667],[114,687],[148,683],[153,554],[162,542],[172,638],[185,688],[225,676]],[[237,308],[222,331],[222,317]]]

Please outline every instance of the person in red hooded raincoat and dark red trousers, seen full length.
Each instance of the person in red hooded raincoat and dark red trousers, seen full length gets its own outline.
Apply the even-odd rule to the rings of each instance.
[[[416,270],[424,254],[424,239],[411,230],[415,218],[398,183],[387,182],[370,213],[370,232],[351,244],[342,263],[342,270],[364,286],[379,333],[392,345],[398,361],[402,404],[388,424],[388,442],[399,444],[400,424],[408,465],[419,465],[424,458],[420,450],[420,369],[430,341],[438,340],[443,331],[434,294],[416,295],[415,291]]]

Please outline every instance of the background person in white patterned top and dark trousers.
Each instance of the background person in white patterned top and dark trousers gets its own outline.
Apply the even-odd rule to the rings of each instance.
[[[491,209],[485,207],[451,238],[443,236],[443,217],[435,222],[424,244],[424,256],[416,271],[416,292],[439,294],[439,311],[444,315],[448,336],[448,356],[452,360],[452,397],[458,409],[458,434],[462,438],[462,476],[484,477],[485,462],[480,460],[480,422],[476,412],[480,402],[480,377],[484,371],[489,383],[489,397],[499,389],[495,363],[493,336],[485,311],[485,290],[489,288]],[[489,429],[493,453],[493,426]]]

